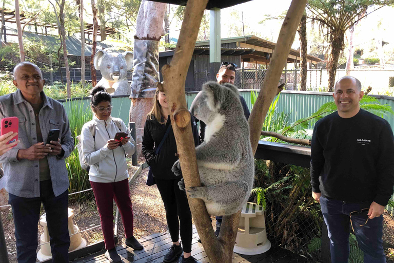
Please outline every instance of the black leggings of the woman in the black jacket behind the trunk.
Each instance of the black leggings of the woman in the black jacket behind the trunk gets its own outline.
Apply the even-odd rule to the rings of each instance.
[[[181,232],[182,247],[186,253],[191,252],[192,224],[191,212],[187,201],[186,192],[181,191],[178,182],[181,179],[161,180],[156,179],[157,188],[162,196],[168,230],[172,242],[179,240]],[[179,222],[178,222],[179,218]]]

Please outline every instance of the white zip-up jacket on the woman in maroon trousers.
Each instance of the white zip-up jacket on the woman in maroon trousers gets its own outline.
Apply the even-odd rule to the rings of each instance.
[[[130,137],[129,142],[121,147],[110,150],[106,144],[113,139],[116,133],[126,132],[127,127],[121,119],[117,119],[122,124],[119,130],[110,117],[107,121],[99,120],[93,116],[93,120],[87,122],[82,127],[81,144],[85,160],[90,165],[89,180],[92,182],[108,183],[119,182],[129,177],[125,152],[132,155],[135,152],[135,142]],[[90,133],[89,126],[94,123],[96,135]]]

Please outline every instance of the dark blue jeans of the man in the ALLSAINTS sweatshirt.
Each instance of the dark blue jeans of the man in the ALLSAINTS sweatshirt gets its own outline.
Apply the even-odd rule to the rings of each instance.
[[[371,202],[348,203],[321,196],[320,204],[330,238],[331,262],[346,263],[349,257],[349,214],[369,208]],[[364,252],[364,262],[385,263],[386,256],[382,246],[383,216],[369,219],[365,226],[360,227],[367,217],[367,213],[351,216],[354,234],[356,234],[360,249]]]

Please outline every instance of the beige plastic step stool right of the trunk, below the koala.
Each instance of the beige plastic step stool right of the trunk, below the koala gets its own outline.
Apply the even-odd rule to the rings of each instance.
[[[241,211],[234,252],[258,255],[267,252],[271,242],[267,239],[263,206],[247,202]]]

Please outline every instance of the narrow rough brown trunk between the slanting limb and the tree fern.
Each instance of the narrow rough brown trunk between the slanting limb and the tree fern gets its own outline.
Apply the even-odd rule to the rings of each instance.
[[[300,27],[298,29],[298,34],[300,35],[300,60],[301,60],[301,70],[300,70],[300,90],[306,90],[306,78],[308,74],[308,58],[307,58],[307,41],[306,41],[306,13],[301,17]]]

